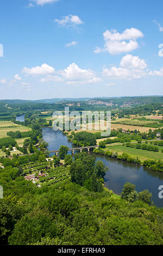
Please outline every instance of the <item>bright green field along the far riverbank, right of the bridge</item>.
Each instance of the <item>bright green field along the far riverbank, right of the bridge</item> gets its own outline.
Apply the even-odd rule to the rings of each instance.
[[[161,150],[161,148],[162,147],[159,147],[159,150]],[[106,147],[105,150],[112,150],[117,153],[127,153],[130,156],[139,157],[139,159],[141,161],[146,160],[146,159],[163,160],[163,153],[161,153],[161,152],[128,148],[128,147],[124,147],[122,145],[114,145],[114,146],[109,145],[108,147]]]

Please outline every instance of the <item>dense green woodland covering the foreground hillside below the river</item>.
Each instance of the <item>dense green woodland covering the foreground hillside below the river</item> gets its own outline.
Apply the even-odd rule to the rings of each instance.
[[[129,183],[122,198],[114,197],[102,186],[101,161],[76,154],[70,181],[41,187],[24,179],[22,167],[23,161],[0,170],[1,245],[162,244],[163,209],[151,205],[151,193],[137,193]]]

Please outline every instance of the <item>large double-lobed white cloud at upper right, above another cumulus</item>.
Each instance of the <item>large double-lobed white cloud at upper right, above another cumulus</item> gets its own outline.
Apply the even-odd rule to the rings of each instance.
[[[109,31],[106,30],[103,33],[104,37],[104,48],[99,48],[96,46],[94,50],[95,53],[102,51],[107,51],[110,54],[121,54],[123,52],[131,52],[139,47],[136,39],[142,38],[143,33],[136,28],[127,28],[122,33],[117,32],[116,30]],[[124,41],[128,40],[128,42]]]

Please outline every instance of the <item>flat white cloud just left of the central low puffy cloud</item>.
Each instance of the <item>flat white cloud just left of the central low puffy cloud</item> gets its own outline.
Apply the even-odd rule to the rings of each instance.
[[[28,75],[47,75],[54,73],[55,70],[52,66],[49,66],[46,63],[44,63],[41,66],[36,66],[31,69],[24,67],[22,72]]]

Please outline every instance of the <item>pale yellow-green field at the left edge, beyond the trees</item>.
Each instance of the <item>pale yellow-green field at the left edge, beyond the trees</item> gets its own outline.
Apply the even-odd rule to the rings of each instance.
[[[13,126],[13,127],[9,127],[9,126]],[[5,122],[2,121],[2,122],[0,122],[0,138],[8,137],[7,132],[9,132],[9,131],[25,132],[25,131],[30,131],[30,130],[31,129],[26,127],[26,126],[14,124],[11,121],[5,121]]]

